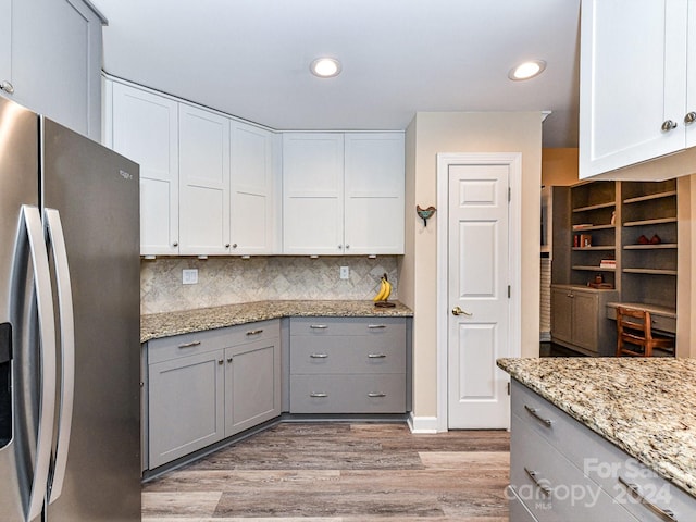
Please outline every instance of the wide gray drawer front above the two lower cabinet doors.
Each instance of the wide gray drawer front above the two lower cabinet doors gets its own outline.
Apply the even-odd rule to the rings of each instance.
[[[243,343],[278,337],[279,333],[281,322],[272,320],[152,339],[148,341],[148,359],[149,363],[153,364]]]

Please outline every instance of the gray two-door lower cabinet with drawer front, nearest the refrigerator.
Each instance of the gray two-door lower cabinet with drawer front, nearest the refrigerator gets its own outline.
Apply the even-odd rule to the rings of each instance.
[[[148,343],[149,469],[281,414],[279,321]]]

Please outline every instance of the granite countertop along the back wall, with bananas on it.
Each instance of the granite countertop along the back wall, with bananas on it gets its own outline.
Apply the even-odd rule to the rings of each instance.
[[[221,328],[289,316],[405,318],[413,312],[398,301],[377,308],[372,301],[256,301],[181,312],[151,313],[140,318],[140,343],[159,337]]]

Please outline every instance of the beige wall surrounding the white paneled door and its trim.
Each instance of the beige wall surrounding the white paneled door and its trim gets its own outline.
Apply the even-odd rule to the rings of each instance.
[[[406,133],[406,254],[399,299],[414,312],[413,414],[437,415],[437,226],[423,227],[415,204],[436,206],[438,152],[522,152],[522,347],[539,349],[539,187],[542,116],[519,113],[418,113]]]

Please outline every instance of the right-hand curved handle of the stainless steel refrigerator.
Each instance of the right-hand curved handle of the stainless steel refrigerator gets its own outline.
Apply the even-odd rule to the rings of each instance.
[[[67,465],[70,432],[73,424],[73,402],[75,398],[75,322],[73,313],[73,291],[70,282],[70,265],[65,249],[63,225],[58,210],[45,209],[46,225],[55,263],[55,286],[58,290],[58,316],[61,343],[61,400],[58,413],[58,443],[55,462],[50,483],[49,504],[60,497]]]

